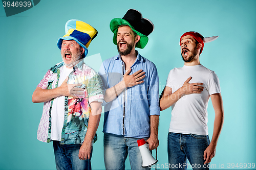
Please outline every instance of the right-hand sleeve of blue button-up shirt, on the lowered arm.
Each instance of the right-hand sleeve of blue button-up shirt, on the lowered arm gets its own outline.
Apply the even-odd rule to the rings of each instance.
[[[151,115],[160,115],[159,108],[159,78],[157,73],[157,68],[154,65],[154,68],[151,73],[151,78],[148,87],[148,104],[150,106],[150,116]]]

